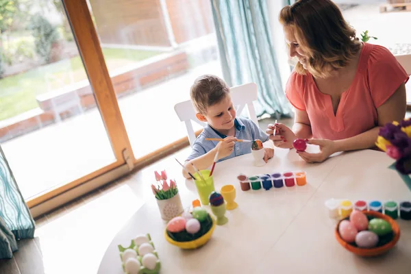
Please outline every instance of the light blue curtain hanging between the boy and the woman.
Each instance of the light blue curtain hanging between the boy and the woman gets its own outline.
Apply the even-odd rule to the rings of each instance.
[[[211,0],[223,77],[229,86],[255,82],[258,116],[289,116],[266,0]]]

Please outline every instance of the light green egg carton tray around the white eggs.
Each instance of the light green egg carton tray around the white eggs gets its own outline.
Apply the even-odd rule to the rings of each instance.
[[[153,247],[153,251],[151,253],[157,258],[157,261],[155,262],[155,268],[154,269],[148,269],[147,267],[144,266],[144,264],[142,262],[142,257],[143,256],[141,256],[140,253],[138,252],[138,249],[139,249],[140,245],[137,245],[137,243],[136,243],[137,239],[141,238],[141,237],[146,237],[148,239],[148,241],[146,241],[146,242],[148,242]],[[133,274],[133,273],[127,272],[126,269],[125,269],[125,262],[123,260],[123,253],[127,249],[132,249],[132,250],[136,251],[136,253],[137,253],[137,258],[136,259],[138,260],[138,262],[140,262],[140,270],[138,271],[138,274],[158,274],[158,273],[160,273],[161,262],[160,262],[160,259],[158,258],[158,253],[155,250],[154,244],[151,241],[150,234],[140,235],[140,236],[132,239],[131,244],[129,245],[129,247],[123,247],[122,245],[118,245],[118,248],[119,248],[119,251],[120,251],[121,265],[123,267],[124,273]]]

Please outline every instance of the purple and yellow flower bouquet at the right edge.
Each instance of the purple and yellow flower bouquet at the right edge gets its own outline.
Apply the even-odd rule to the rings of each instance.
[[[384,125],[375,144],[395,160],[390,169],[395,169],[411,190],[411,119]]]

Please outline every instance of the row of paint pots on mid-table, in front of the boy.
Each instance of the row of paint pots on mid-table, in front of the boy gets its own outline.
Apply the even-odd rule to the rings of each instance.
[[[296,184],[297,186],[307,184],[304,171],[253,175],[251,177],[240,174],[237,179],[240,181],[242,191],[260,190],[261,188],[269,190],[271,188],[282,188],[283,186],[291,187]]]

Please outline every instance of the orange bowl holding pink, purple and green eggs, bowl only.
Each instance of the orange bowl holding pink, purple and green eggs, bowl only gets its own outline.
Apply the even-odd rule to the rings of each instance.
[[[379,256],[381,254],[386,253],[390,249],[392,249],[399,240],[399,226],[398,226],[398,224],[390,216],[384,215],[384,214],[376,212],[376,211],[365,211],[364,210],[363,213],[366,214],[367,216],[373,216],[375,218],[384,219],[385,221],[390,223],[391,227],[393,228],[393,234],[394,234],[393,240],[391,240],[390,242],[387,242],[385,245],[382,245],[381,247],[374,247],[374,248],[371,248],[371,249],[364,249],[364,248],[360,248],[360,247],[354,247],[353,245],[350,245],[348,242],[345,242],[345,240],[343,240],[343,238],[341,238],[340,233],[338,232],[338,226],[340,225],[340,222],[345,220],[345,219],[343,219],[343,220],[338,222],[338,224],[336,226],[336,231],[335,231],[336,238],[337,238],[338,242],[340,243],[340,245],[342,245],[348,251],[351,251],[352,253],[354,253],[358,256],[363,256],[363,257]]]

